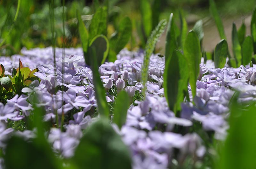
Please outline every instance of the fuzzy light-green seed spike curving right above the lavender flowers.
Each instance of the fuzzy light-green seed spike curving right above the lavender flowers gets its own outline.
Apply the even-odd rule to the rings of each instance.
[[[159,24],[156,26],[155,30],[151,33],[145,49],[145,55],[143,59],[143,65],[142,65],[142,72],[141,72],[141,80],[143,84],[143,95],[145,96],[146,93],[146,82],[148,81],[148,65],[150,61],[150,56],[154,52],[156,42],[161,36],[161,34],[164,32],[164,28],[166,26],[167,22],[165,19],[161,20]]]

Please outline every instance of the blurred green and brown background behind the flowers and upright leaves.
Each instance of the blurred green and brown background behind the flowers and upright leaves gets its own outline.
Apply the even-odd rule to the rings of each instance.
[[[0,45],[0,56],[19,54],[22,47],[30,49],[52,46],[49,2],[21,0],[18,17],[13,22],[18,8],[18,1],[0,0],[0,43],[4,40],[4,43]],[[225,28],[228,44],[231,44],[231,30],[234,21],[237,29],[244,22],[246,34],[250,33],[251,14],[256,5],[255,0],[221,0],[215,1],[215,3]],[[65,36],[63,36],[63,5]],[[143,32],[141,26],[151,31],[159,20],[168,20],[171,12],[174,13],[175,23],[180,25],[179,10],[183,11],[188,23],[188,29],[192,29],[196,21],[202,19],[204,29],[203,47],[205,51],[212,52],[220,41],[217,27],[209,12],[208,0],[54,0],[56,47],[62,47],[63,41],[65,47],[80,47],[76,10],[79,10],[83,15],[82,20],[88,27],[92,14],[100,5],[108,6],[108,37],[115,32],[122,18],[128,16],[132,20],[132,38],[126,45],[129,50],[144,47],[147,32]],[[144,15],[146,13],[151,18],[148,20],[147,25],[143,25],[143,12]],[[10,29],[12,30],[9,31]],[[164,46],[165,33],[156,46],[156,52],[163,53]]]

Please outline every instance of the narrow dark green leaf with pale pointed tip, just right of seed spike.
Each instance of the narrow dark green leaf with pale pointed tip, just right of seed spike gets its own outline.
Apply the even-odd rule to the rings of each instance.
[[[166,41],[165,41],[165,62],[168,58],[172,57],[172,53],[174,49],[177,48],[177,41],[175,36],[174,29],[174,18],[173,13],[171,13],[168,25],[167,25],[167,33],[166,33]]]

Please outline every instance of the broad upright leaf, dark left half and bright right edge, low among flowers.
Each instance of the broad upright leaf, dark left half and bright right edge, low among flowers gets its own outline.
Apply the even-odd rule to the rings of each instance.
[[[188,90],[187,72],[185,57],[179,51],[174,51],[165,64],[164,95],[170,110],[175,114],[180,110],[180,103],[183,102],[184,93]]]

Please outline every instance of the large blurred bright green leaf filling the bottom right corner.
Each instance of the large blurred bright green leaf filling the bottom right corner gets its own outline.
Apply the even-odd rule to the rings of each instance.
[[[228,136],[220,150],[217,168],[256,168],[255,102],[246,107],[233,104]]]

